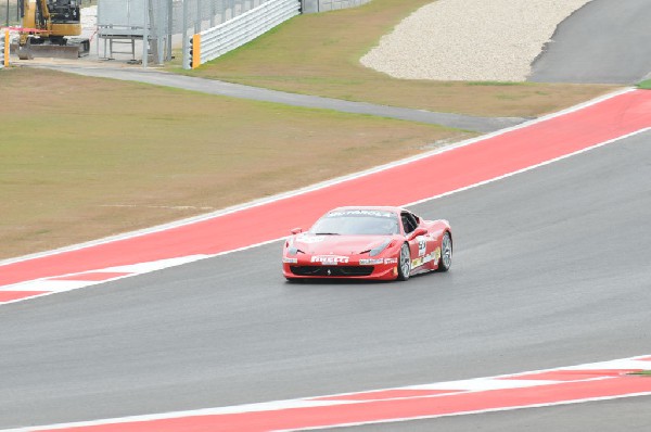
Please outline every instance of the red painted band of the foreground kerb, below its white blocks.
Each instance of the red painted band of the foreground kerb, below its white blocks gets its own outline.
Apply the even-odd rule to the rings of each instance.
[[[264,432],[433,418],[509,408],[547,406],[586,399],[624,397],[636,394],[651,394],[651,379],[627,376],[536,387],[469,392],[449,396],[193,416],[56,430],[75,432]]]

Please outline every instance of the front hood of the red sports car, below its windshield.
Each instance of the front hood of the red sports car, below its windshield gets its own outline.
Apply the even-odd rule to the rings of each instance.
[[[310,255],[355,255],[391,240],[392,236],[311,236],[298,234],[294,247]]]

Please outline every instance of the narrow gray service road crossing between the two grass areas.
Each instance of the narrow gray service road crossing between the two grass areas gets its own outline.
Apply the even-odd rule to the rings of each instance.
[[[350,102],[340,99],[321,98],[308,94],[286,93],[240,84],[224,82],[176,74],[168,74],[142,68],[115,68],[89,66],[38,65],[62,72],[113,78],[128,81],[140,81],[157,86],[175,87],[186,90],[200,91],[208,94],[219,94],[231,98],[250,99],[255,101],[282,103],[308,109],[333,110],[350,114],[366,114],[379,117],[395,118],[408,122],[420,122],[441,125],[475,132],[492,132],[519,125],[526,120],[521,117],[476,117],[461,114],[435,113],[425,110],[414,110],[398,106],[375,105],[368,102]]]

